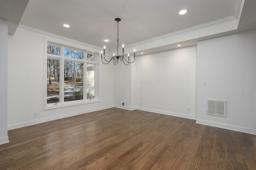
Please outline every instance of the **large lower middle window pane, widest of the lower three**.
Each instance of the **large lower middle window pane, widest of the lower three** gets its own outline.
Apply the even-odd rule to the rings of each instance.
[[[84,99],[84,63],[64,61],[64,101]]]

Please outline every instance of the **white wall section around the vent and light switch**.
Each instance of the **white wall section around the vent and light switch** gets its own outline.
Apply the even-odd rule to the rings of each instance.
[[[196,65],[196,122],[256,134],[256,30],[198,42]],[[206,99],[226,100],[227,117],[206,115]]]

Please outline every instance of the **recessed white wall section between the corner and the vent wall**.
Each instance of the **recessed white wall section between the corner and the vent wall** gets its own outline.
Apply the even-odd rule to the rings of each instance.
[[[196,46],[138,56],[136,91],[138,109],[196,119]]]

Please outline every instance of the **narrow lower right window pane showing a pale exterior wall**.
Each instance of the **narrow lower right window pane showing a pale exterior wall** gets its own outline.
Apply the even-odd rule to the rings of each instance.
[[[87,64],[86,67],[86,99],[94,99],[95,64]]]

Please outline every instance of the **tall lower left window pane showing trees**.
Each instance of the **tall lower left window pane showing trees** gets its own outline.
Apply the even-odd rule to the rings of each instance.
[[[47,103],[60,101],[60,60],[47,59]]]

